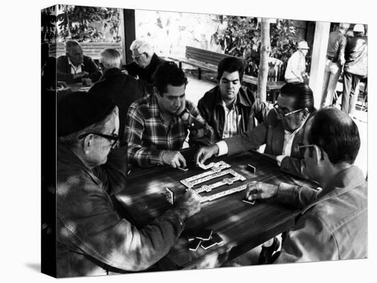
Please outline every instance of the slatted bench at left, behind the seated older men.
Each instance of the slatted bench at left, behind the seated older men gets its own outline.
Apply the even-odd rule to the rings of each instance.
[[[80,44],[84,55],[91,57],[95,61],[99,60],[99,53],[106,48],[116,49],[119,53],[123,53],[120,42],[80,42]],[[60,55],[65,55],[65,53],[64,42],[50,45],[50,56],[59,57]]]

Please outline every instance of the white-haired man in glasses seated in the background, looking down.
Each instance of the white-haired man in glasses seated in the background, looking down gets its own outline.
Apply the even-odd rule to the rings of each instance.
[[[154,53],[151,44],[144,40],[134,40],[130,46],[132,58],[134,62],[123,66],[127,70],[128,75],[138,77],[148,85],[149,93],[153,92],[152,75],[157,66],[166,62],[165,59],[158,57]]]

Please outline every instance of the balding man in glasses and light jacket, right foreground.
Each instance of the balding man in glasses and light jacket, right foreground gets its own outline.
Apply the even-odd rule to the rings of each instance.
[[[355,122],[338,109],[321,109],[297,148],[306,174],[321,189],[255,183],[246,190],[249,200],[271,198],[302,209],[271,262],[366,258],[367,181],[353,165],[360,148]]]

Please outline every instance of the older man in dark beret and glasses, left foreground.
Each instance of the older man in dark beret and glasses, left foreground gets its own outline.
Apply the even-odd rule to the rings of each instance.
[[[200,211],[198,196],[186,193],[149,225],[132,226],[110,199],[126,188],[127,175],[127,148],[117,148],[118,108],[111,98],[66,94],[58,100],[57,125],[57,276],[147,269]]]

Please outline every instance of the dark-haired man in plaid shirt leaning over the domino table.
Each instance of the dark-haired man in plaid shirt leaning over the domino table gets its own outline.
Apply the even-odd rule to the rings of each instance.
[[[158,66],[154,73],[154,94],[128,109],[125,142],[128,159],[141,167],[170,165],[186,167],[179,152],[189,134],[189,144],[212,144],[213,130],[199,111],[185,98],[187,79],[173,62]]]

